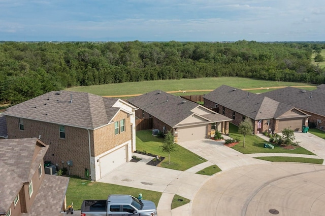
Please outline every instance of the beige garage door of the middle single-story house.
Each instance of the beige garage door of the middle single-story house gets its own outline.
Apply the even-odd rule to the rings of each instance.
[[[178,128],[178,142],[206,138],[207,125]]]

